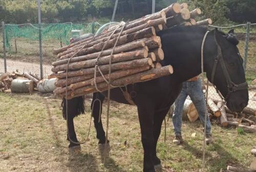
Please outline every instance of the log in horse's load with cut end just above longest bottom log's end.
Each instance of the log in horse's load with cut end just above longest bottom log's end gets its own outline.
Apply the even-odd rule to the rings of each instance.
[[[113,63],[111,65],[111,69],[113,71],[114,70],[125,70],[125,69],[143,67],[145,65],[152,65],[152,63],[153,63],[152,59],[150,59],[150,58],[143,58],[143,59],[138,59],[138,60]],[[100,68],[100,70],[102,72],[109,71],[109,65],[102,65],[99,68]],[[95,68],[81,69],[79,71],[68,72],[68,77],[94,74],[94,72],[95,72]],[[51,74],[50,78],[52,78],[52,77],[55,77],[55,78],[65,78],[66,77],[66,73]]]

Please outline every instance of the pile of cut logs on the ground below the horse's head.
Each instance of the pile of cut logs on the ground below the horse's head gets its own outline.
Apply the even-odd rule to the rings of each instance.
[[[232,113],[221,101],[209,98],[207,104],[208,111],[218,119],[221,126],[240,127],[244,132],[256,133],[256,111],[250,107],[245,107],[242,113]]]

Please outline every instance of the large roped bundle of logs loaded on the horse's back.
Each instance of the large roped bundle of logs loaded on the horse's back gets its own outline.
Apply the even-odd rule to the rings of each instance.
[[[189,11],[187,4],[172,4],[154,14],[110,27],[97,36],[55,49],[49,78],[57,78],[54,94],[71,99],[108,88],[152,80],[173,73],[162,67],[158,31],[176,25],[208,25],[211,19],[196,22],[200,9]],[[111,65],[110,65],[111,61]],[[110,73],[111,70],[111,73]],[[111,82],[109,82],[111,81]]]

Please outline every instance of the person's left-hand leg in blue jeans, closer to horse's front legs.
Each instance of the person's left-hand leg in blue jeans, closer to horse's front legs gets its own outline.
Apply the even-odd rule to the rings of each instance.
[[[182,124],[182,111],[184,102],[186,100],[186,83],[182,84],[182,90],[180,95],[174,102],[174,113],[173,113],[173,126],[174,126],[174,134],[175,136],[181,136],[181,124]]]

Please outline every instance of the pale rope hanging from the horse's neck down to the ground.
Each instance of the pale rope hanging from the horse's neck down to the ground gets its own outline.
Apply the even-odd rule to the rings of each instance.
[[[204,86],[204,43],[205,43],[205,39],[208,35],[210,31],[207,31],[204,35],[204,38],[203,38],[203,41],[202,41],[202,47],[201,47],[201,77],[202,77],[202,92],[204,93],[205,91],[205,86]],[[207,98],[206,100],[207,101]],[[203,143],[203,172],[205,170],[205,144],[206,144],[206,141],[205,141],[205,138],[206,138],[206,119],[207,119],[207,106],[206,106],[206,103],[205,103],[205,114],[204,114],[204,143]]]

